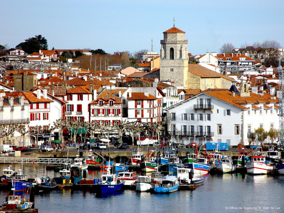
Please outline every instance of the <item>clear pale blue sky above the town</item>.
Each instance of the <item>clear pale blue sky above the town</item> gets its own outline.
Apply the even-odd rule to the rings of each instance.
[[[10,48],[42,35],[49,49],[101,48],[160,54],[163,32],[185,32],[193,55],[276,40],[284,47],[284,1],[5,1],[0,0],[0,44]]]

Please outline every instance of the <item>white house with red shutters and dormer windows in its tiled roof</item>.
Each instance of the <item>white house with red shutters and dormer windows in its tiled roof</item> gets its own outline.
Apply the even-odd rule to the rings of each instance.
[[[89,104],[90,122],[103,121],[114,124],[122,120],[122,103],[125,103],[128,88],[107,87],[97,96],[94,90],[94,100]]]

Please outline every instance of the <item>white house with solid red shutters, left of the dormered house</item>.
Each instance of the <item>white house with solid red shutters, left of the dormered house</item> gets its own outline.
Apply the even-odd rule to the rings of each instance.
[[[92,92],[76,86],[66,91],[64,100],[68,101],[63,112],[64,118],[80,122],[89,121],[88,104],[92,101]]]

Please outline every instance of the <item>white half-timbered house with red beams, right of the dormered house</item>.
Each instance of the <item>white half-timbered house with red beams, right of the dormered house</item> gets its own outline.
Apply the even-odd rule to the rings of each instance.
[[[156,122],[158,98],[145,92],[127,93],[127,119],[128,121]]]

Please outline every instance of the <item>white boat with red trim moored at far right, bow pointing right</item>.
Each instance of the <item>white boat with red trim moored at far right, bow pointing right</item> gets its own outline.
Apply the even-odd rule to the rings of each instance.
[[[246,166],[248,174],[251,175],[269,174],[275,169],[275,165],[271,164],[270,161],[265,161],[263,155],[252,156],[251,162],[248,162]]]

